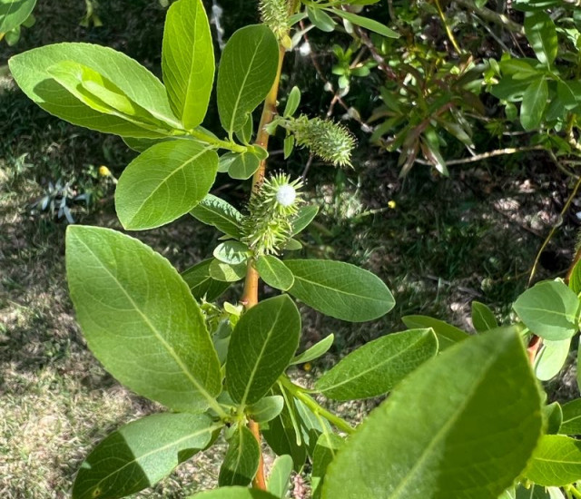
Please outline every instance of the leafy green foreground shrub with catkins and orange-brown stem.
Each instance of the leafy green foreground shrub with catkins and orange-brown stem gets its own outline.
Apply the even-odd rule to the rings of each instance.
[[[221,434],[228,449],[219,488],[196,498],[285,497],[292,470],[308,461],[312,496],[323,499],[494,499],[529,494],[531,487],[539,494],[548,487],[552,497],[561,494],[558,487],[569,497],[581,494],[574,486],[581,448],[568,436],[581,433],[578,400],[562,409],[546,405],[530,366],[542,378],[563,365],[562,352],[579,328],[578,265],[568,287],[542,282],[518,298],[514,324],[499,326],[478,303],[474,337],[434,318],[407,317],[408,330],[350,353],[312,389],[287,375],[333,342],[331,335],[297,354],[295,299],[352,322],[380,318],[394,306],[388,287],[367,270],[288,258],[318,207],[304,201],[300,180],[266,171],[269,131],[279,126],[287,132],[287,155],[296,142],[350,164],[348,132],[293,117],[298,90],[281,116],[276,104],[291,26],[308,16],[328,29],[339,18],[393,35],[349,10],[371,3],[263,0],[267,24],[241,28],[222,53],[219,134],[202,127],[215,64],[201,0],[178,0],[168,11],[163,83],[129,57],[92,44],[50,45],[11,59],[16,82],[46,111],[121,135],[140,152],[115,192],[125,230],[153,229],[190,213],[222,234],[212,258],[180,274],[122,232],[67,230],[67,278],[88,346],[124,386],[168,409],[97,445],[76,476],[74,498],[137,493]],[[252,112],[261,103],[255,128]],[[247,210],[210,193],[218,172],[252,178]],[[240,280],[237,304],[217,301]],[[261,281],[281,294],[259,300]],[[313,397],[388,393],[358,427]],[[278,455],[268,477],[262,439]]]

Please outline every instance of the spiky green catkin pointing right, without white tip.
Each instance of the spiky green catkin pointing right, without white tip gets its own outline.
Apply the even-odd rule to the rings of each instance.
[[[351,166],[351,151],[355,147],[355,139],[340,124],[300,116],[281,125],[294,135],[298,145],[306,147],[321,160],[329,161],[335,166]]]

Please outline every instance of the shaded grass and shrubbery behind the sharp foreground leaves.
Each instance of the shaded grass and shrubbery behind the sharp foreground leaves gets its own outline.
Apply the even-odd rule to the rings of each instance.
[[[161,75],[163,4],[38,0],[35,24],[22,28],[17,43],[0,44],[3,498],[65,497],[96,440],[155,409],[117,385],[88,353],[64,280],[68,223],[120,229],[113,179],[134,152],[117,137],[44,113],[15,87],[5,64],[36,46],[82,41],[112,46]],[[325,33],[303,21],[307,31],[287,58],[281,95],[298,85],[300,109],[343,122],[357,136],[358,149],[353,169],[343,171],[302,150],[283,162],[282,141],[275,141],[270,168],[304,175],[310,199],[321,204],[306,232],[304,253],[376,272],[394,291],[397,306],[387,318],[363,325],[301,310],[303,347],[330,332],[337,338],[329,356],[300,367],[301,377],[316,377],[353,347],[403,328],[400,318],[407,314],[431,315],[469,330],[470,302],[478,299],[499,319],[507,318],[553,228],[554,237],[540,253],[537,279],[566,272],[581,220],[581,200],[575,197],[561,214],[577,181],[577,104],[543,109],[531,123],[522,109],[518,112],[523,88],[511,86],[510,64],[497,68],[489,62],[502,62],[503,54],[505,60],[507,54],[522,59],[532,70],[520,70],[532,71],[535,82],[549,81],[549,97],[560,88],[553,84],[554,73],[565,82],[578,74],[578,51],[570,41],[578,34],[573,33],[576,13],[566,2],[545,5],[552,8],[559,46],[568,52],[558,68],[540,73],[522,31],[524,11],[507,9],[500,0],[381,0],[367,7],[365,15],[402,34],[398,40],[361,30],[350,34],[342,25]],[[222,9],[218,19],[225,39],[259,20],[249,0],[206,6],[208,12]],[[504,22],[498,21],[500,14],[507,15]],[[481,93],[503,79],[500,91]],[[217,130],[217,115],[207,124]],[[487,157],[491,151],[498,154]],[[224,177],[216,192],[243,208],[248,187],[235,185]],[[207,258],[216,238],[189,217],[136,235],[181,270]],[[236,299],[236,293],[229,298]],[[557,397],[566,398],[571,376],[566,371],[554,383]],[[339,407],[355,419],[365,409]],[[147,496],[185,497],[215,475],[212,455],[202,455]],[[296,496],[302,497],[300,479],[297,483]]]

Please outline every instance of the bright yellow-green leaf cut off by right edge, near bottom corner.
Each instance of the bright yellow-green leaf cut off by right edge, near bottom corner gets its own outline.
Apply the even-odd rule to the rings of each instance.
[[[555,487],[581,480],[581,441],[565,435],[544,435],[525,476],[535,484]]]

